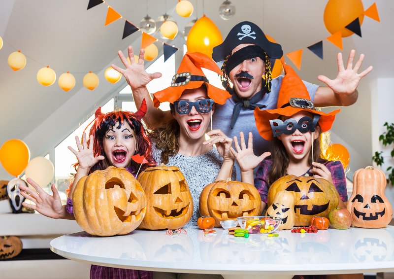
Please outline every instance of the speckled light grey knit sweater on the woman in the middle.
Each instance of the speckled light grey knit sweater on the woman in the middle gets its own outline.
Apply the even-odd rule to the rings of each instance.
[[[155,144],[152,144],[152,156],[157,164],[161,164],[162,150],[157,149]],[[198,211],[198,202],[202,189],[204,186],[215,181],[220,168],[223,164],[223,158],[219,155],[217,149],[214,147],[210,151],[199,156],[183,156],[176,154],[168,158],[167,166],[176,166],[185,176],[189,184],[190,192],[193,198],[193,216],[187,226],[194,226],[197,224],[197,219],[200,214]],[[231,180],[235,180],[235,168],[232,171]]]

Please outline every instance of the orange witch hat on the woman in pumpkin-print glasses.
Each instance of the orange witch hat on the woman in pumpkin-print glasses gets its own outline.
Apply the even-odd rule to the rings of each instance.
[[[154,105],[158,107],[163,102],[173,104],[181,97],[183,91],[199,88],[202,84],[206,85],[210,99],[216,104],[224,105],[231,95],[226,90],[209,84],[201,67],[222,74],[215,62],[205,54],[200,52],[186,53],[176,74],[172,77],[171,86],[153,94]]]

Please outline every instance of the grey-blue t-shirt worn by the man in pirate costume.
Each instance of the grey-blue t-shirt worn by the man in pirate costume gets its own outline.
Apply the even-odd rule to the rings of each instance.
[[[258,104],[266,105],[263,109],[275,109],[278,103],[279,89],[282,84],[283,75],[274,78],[271,83],[271,92],[264,94],[263,99]],[[309,92],[311,101],[315,99],[315,93],[319,85],[303,81],[306,89]],[[224,105],[216,105],[215,113],[212,115],[212,128],[220,129],[228,137],[232,138],[236,136],[239,142],[239,133],[243,132],[245,140],[248,139],[248,133],[253,133],[253,150],[257,156],[260,156],[266,151],[269,151],[270,141],[263,139],[257,131],[254,110],[249,108],[241,108],[239,116],[235,122],[234,129],[231,130],[230,123],[232,118],[232,112],[234,110],[235,102],[232,98],[226,101]],[[235,161],[235,167],[237,172],[237,180],[240,181],[240,169],[239,165]]]

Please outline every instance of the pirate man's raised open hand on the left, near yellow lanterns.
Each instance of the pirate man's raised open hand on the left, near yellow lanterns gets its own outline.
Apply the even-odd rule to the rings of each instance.
[[[126,57],[123,55],[122,51],[118,51],[118,55],[120,60],[122,61],[123,65],[126,69],[122,69],[115,64],[112,64],[111,67],[126,78],[127,83],[130,85],[131,90],[138,90],[141,87],[147,85],[151,80],[155,78],[159,78],[162,76],[160,72],[155,73],[147,73],[144,68],[144,57],[145,57],[145,50],[141,49],[139,52],[138,62],[136,63],[134,60],[134,52],[132,47],[128,47],[128,54],[130,63],[127,61]]]

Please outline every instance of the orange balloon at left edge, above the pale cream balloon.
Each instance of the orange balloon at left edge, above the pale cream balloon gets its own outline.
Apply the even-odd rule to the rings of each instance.
[[[0,147],[1,165],[12,176],[18,177],[21,175],[29,160],[29,147],[20,139],[9,139]]]

